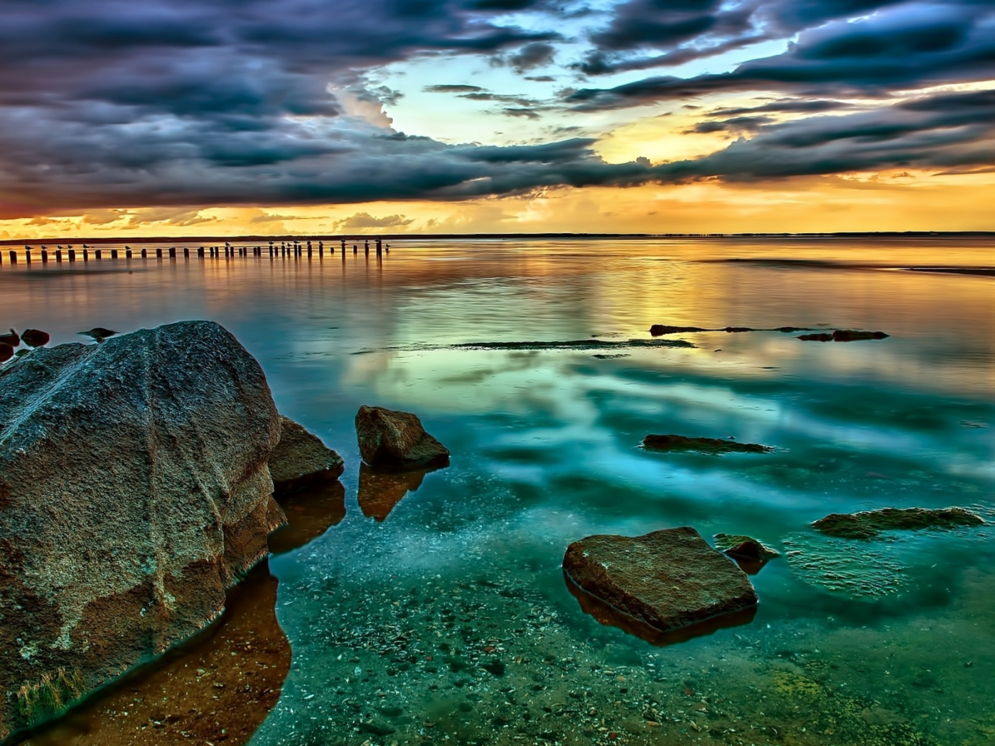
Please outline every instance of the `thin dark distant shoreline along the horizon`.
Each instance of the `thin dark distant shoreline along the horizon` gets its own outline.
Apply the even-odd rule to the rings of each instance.
[[[72,243],[81,244],[222,244],[231,243],[269,244],[271,241],[325,241],[338,243],[342,239],[358,241],[367,238],[380,238],[384,241],[452,241],[452,240],[492,240],[492,239],[574,239],[574,240],[659,240],[659,239],[955,239],[990,238],[995,239],[995,231],[840,231],[829,233],[439,233],[439,234],[388,234],[350,233],[333,236],[313,234],[289,234],[284,236],[115,236],[115,237],[73,237],[47,239],[4,239],[0,246],[51,246]]]

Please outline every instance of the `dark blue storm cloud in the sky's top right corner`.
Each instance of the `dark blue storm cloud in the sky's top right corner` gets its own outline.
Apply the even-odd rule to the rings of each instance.
[[[813,16],[814,5],[800,17]],[[784,54],[745,63],[731,73],[648,78],[613,89],[575,91],[567,101],[585,110],[724,92],[875,95],[993,78],[995,5],[960,0],[903,4],[863,20],[834,21],[802,33]]]

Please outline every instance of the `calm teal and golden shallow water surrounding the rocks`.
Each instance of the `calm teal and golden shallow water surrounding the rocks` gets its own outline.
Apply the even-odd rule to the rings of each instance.
[[[260,359],[281,411],[345,458],[344,517],[337,503],[311,516],[309,543],[270,561],[293,659],[253,744],[984,744],[992,529],[855,542],[807,524],[884,506],[995,519],[995,280],[903,269],[989,268],[993,249],[410,241],[379,262],[360,249],[30,268],[5,254],[0,327],[63,342],[215,319]],[[626,344],[652,323],[892,336]],[[618,344],[456,346],[592,338]],[[361,472],[360,404],[416,412],[453,465]],[[637,448],[649,433],[776,450],[654,454]],[[678,525],[782,552],[751,578],[748,624],[660,647],[581,609],[568,543]]]

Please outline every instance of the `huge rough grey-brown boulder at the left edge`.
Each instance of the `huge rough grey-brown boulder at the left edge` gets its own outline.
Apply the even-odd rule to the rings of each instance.
[[[33,350],[0,429],[4,738],[218,617],[284,513],[266,377],[216,323]]]

